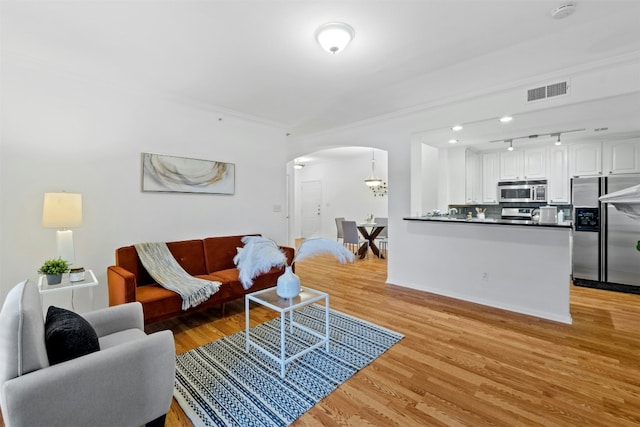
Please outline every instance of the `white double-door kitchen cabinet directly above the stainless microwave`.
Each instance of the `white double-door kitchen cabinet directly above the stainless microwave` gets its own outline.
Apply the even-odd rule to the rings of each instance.
[[[500,179],[546,178],[546,148],[500,152]]]

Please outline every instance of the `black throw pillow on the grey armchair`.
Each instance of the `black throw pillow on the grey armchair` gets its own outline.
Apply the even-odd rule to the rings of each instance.
[[[44,334],[52,365],[100,350],[95,329],[84,317],[64,308],[49,307]]]

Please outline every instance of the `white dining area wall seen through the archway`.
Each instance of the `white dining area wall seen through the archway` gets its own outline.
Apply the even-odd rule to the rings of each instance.
[[[375,161],[376,175],[388,184],[386,151],[375,150]],[[303,169],[296,170],[295,236],[302,235],[300,187],[305,181],[320,181],[322,186],[321,234],[318,237],[336,237],[336,217],[359,222],[370,214],[388,217],[387,196],[374,197],[364,183],[370,173],[370,150],[360,157],[310,162]]]

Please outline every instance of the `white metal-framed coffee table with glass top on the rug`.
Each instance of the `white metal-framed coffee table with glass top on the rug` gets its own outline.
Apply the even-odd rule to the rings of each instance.
[[[319,301],[324,300],[324,311],[325,311],[325,330],[324,335],[310,329],[300,323],[293,321],[293,312],[302,307],[305,307],[309,304],[313,304]],[[280,354],[273,354],[266,348],[260,346],[255,341],[251,341],[251,334],[249,332],[249,303],[253,301],[257,304],[268,307],[272,310],[280,313]],[[244,307],[245,307],[245,351],[248,353],[250,347],[254,347],[256,350],[262,352],[266,356],[275,360],[280,364],[280,377],[284,378],[285,366],[287,363],[291,362],[294,359],[297,359],[300,356],[303,356],[310,352],[311,350],[315,350],[320,346],[325,346],[325,351],[329,352],[329,294],[324,292],[316,291],[315,289],[302,287],[300,289],[300,294],[294,298],[280,298],[276,293],[276,288],[264,289],[262,291],[253,292],[245,295],[244,297]],[[320,338],[319,342],[314,344],[309,344],[309,347],[304,350],[293,354],[287,357],[286,354],[286,325],[285,319],[286,315],[289,313],[289,333],[293,332],[293,328],[299,328],[304,330],[305,332]]]

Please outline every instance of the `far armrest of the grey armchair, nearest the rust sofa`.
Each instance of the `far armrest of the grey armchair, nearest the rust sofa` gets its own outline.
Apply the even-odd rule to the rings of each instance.
[[[142,304],[139,302],[130,302],[83,313],[82,317],[93,326],[98,337],[125,329],[140,329],[144,332],[144,313]]]

